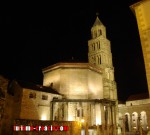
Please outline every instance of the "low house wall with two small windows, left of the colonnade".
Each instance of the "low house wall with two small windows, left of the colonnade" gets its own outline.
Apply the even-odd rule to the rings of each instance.
[[[36,95],[35,98],[29,97],[31,93]],[[47,100],[43,100],[42,95],[48,96]],[[61,98],[56,94],[23,89],[20,119],[50,120],[50,102],[54,97]]]

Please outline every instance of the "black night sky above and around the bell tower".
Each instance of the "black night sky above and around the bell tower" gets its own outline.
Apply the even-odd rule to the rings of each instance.
[[[96,12],[111,41],[118,98],[147,92],[135,15],[137,0],[33,3],[6,8],[1,16],[0,73],[8,79],[42,84],[42,69],[71,60],[88,62],[88,40]]]

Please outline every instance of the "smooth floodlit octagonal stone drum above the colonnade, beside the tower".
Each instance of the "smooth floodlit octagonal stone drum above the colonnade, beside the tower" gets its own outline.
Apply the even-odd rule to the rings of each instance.
[[[44,72],[44,86],[53,88],[68,99],[101,99],[103,82],[101,72],[84,63],[60,63]]]

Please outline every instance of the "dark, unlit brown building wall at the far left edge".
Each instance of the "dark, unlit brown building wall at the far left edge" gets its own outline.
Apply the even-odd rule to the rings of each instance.
[[[4,116],[2,119],[2,131],[3,134],[12,133],[12,127],[14,125],[14,120],[19,118],[21,110],[21,87],[16,85],[16,82],[13,83],[13,93],[5,93],[5,104],[4,104]]]

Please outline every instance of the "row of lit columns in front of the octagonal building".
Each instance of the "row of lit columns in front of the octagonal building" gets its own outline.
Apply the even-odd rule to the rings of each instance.
[[[116,112],[116,104],[111,101],[66,99],[51,102],[51,120],[84,120],[89,128],[100,126],[105,132],[116,132]]]

